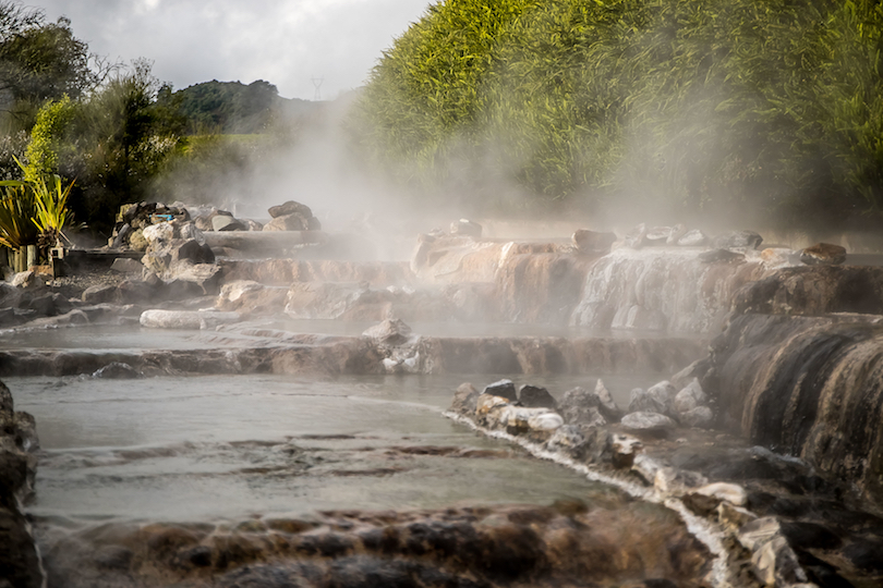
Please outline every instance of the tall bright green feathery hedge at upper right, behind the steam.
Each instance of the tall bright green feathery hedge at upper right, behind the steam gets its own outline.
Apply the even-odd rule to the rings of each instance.
[[[447,0],[373,71],[361,139],[485,208],[517,187],[531,207],[876,223],[882,34],[871,0]]]

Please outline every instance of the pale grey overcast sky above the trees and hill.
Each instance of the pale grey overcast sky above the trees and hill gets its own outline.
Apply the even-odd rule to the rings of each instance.
[[[144,57],[176,89],[265,79],[286,98],[336,98],[365,81],[430,0],[29,0],[65,15],[89,50]]]

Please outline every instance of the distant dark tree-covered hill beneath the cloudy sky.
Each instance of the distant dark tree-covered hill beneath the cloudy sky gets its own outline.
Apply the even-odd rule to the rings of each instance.
[[[257,79],[204,82],[173,94],[179,112],[188,120],[188,132],[253,134],[267,131],[274,121],[310,114],[318,102],[282,98],[276,86]]]

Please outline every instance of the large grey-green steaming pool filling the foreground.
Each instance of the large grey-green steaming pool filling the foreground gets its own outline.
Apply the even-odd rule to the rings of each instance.
[[[487,381],[491,381],[488,379]],[[580,378],[531,378],[561,394]],[[618,394],[652,377],[605,379]],[[440,417],[458,377],[8,379],[44,454],[41,524],[207,520],[608,492]]]

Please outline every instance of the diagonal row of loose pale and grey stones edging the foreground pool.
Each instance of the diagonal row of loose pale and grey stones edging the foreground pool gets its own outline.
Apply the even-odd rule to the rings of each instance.
[[[682,380],[685,372],[673,380],[678,381],[678,377]],[[759,448],[747,451],[722,448],[717,453],[710,452],[704,461],[693,457],[705,474],[718,471],[723,479],[743,480],[735,483],[712,481],[711,474],[672,466],[668,458],[660,455],[654,443],[668,438],[664,434],[667,429],[674,429],[678,422],[692,424],[697,415],[702,415],[703,421],[711,419],[706,396],[695,379],[680,391],[669,381],[646,391],[633,391],[625,416],[601,380],[593,391],[576,388],[559,401],[539,387],[522,385],[517,392],[511,380],[488,384],[481,393],[472,384],[463,383],[455,393],[450,411],[485,429],[505,431],[577,462],[607,468],[616,477],[650,487],[657,500],[677,499],[693,514],[713,520],[728,536],[728,544],[733,547],[727,565],[740,571],[738,574],[745,571],[753,576],[745,578],[747,585],[797,588],[814,586],[807,583],[823,575],[843,579],[820,561],[810,562],[814,566],[811,577],[793,548],[794,525],[784,525],[776,516],[758,515],[750,510],[752,501],[767,494],[749,492],[745,483],[759,483],[754,478],[760,483],[769,482],[771,470],[781,470],[783,479],[801,479],[810,474],[802,464],[784,463],[771,452],[759,453]],[[655,436],[654,431],[663,434]],[[681,429],[680,434],[688,433]]]

